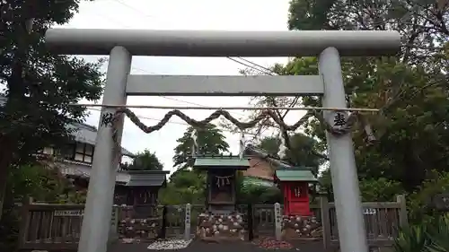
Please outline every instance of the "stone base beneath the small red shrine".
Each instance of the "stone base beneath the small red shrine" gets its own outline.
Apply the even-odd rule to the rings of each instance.
[[[282,239],[321,239],[321,223],[314,216],[284,215]]]

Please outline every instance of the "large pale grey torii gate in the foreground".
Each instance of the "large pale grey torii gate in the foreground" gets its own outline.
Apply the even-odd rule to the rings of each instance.
[[[126,105],[127,95],[321,95],[324,107],[346,108],[340,56],[392,56],[396,31],[193,31],[50,29],[46,43],[61,55],[109,55],[103,104]],[[132,56],[319,56],[314,76],[161,76],[129,74]],[[103,107],[101,117],[115,113]],[[331,112],[325,113],[332,121]],[[123,117],[117,125],[121,142]],[[79,252],[106,252],[118,159],[113,129],[100,123]],[[368,251],[351,135],[327,134],[342,252]]]

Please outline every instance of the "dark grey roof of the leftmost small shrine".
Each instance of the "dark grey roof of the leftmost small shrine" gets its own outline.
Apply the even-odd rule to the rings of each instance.
[[[130,170],[127,187],[163,187],[168,170]]]

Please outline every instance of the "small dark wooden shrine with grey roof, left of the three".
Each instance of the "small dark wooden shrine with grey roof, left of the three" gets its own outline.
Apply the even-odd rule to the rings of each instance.
[[[157,204],[159,189],[167,184],[168,170],[130,170],[128,187],[128,205]]]

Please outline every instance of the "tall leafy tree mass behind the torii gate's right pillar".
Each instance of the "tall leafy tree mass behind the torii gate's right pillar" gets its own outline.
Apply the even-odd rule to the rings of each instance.
[[[380,115],[369,117],[377,144],[366,146],[361,132],[354,134],[360,178],[401,181],[413,191],[432,169],[447,170],[448,10],[447,1],[292,1],[291,30],[401,33],[404,46],[398,57],[354,57],[342,62],[350,105],[382,109]],[[302,62],[295,59],[285,70],[297,74],[295,65]],[[303,101],[320,105],[318,98]],[[309,133],[324,139],[316,121],[309,125]]]

